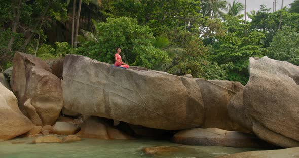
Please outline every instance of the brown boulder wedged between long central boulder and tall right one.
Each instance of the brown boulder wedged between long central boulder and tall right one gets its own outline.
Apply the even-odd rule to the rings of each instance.
[[[228,114],[231,98],[243,91],[240,82],[195,79],[204,102],[205,119],[201,128],[217,127],[229,131],[250,132],[232,121]]]

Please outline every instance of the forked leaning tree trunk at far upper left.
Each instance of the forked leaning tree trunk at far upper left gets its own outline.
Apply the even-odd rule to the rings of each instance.
[[[8,43],[8,46],[7,46],[7,49],[9,51],[12,50],[12,46],[13,46],[13,43],[15,41],[14,33],[17,32],[18,24],[19,24],[19,21],[20,21],[21,4],[22,4],[22,0],[19,0],[18,9],[16,11],[16,8],[15,8],[15,5],[14,5],[14,1],[12,1],[12,9],[13,9],[13,14],[14,14],[15,20],[13,21],[13,27],[12,27],[12,33],[13,34],[12,34],[12,37],[11,37],[9,43]]]

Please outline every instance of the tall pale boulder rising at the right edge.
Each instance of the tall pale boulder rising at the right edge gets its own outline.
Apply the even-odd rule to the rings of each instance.
[[[244,91],[232,98],[231,118],[274,145],[299,146],[299,67],[250,58],[249,73]]]

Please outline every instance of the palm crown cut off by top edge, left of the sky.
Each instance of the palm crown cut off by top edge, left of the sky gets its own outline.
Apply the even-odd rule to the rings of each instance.
[[[204,16],[209,16],[211,19],[223,15],[223,11],[227,6],[226,0],[203,0],[202,13]]]

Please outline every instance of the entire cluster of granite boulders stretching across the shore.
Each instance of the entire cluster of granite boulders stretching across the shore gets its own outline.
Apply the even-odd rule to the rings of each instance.
[[[10,71],[10,83],[0,75],[0,140],[132,139],[115,127],[121,122],[175,131],[172,141],[183,144],[299,146],[299,67],[288,62],[250,58],[245,86],[73,54],[47,63],[16,52]]]

